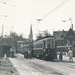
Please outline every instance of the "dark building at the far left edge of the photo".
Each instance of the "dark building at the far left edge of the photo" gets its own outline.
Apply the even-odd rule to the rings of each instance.
[[[11,36],[3,36],[0,38],[0,57],[10,56],[10,48],[14,46],[14,40]]]

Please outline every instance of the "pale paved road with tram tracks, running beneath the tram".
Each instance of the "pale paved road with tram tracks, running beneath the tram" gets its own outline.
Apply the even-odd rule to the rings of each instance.
[[[39,59],[25,59],[17,54],[16,58],[10,58],[15,68],[21,75],[75,75],[75,63],[69,63],[64,57],[63,62],[51,62]]]

